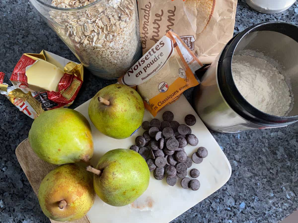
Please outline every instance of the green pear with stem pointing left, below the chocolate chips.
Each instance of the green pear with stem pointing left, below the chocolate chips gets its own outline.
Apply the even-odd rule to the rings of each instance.
[[[126,149],[110,150],[95,168],[93,186],[103,202],[124,206],[134,202],[148,188],[150,171],[145,159],[137,152]]]

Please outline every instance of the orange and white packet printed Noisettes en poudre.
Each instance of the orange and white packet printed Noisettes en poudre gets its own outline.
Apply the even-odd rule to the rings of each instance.
[[[145,108],[156,116],[185,90],[199,84],[194,73],[202,66],[180,37],[170,30],[118,81],[136,86]]]

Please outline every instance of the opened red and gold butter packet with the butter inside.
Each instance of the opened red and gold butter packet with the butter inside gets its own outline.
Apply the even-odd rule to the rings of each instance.
[[[23,54],[10,76],[12,86],[3,83],[4,73],[0,72],[0,93],[35,119],[44,111],[69,107],[82,86],[83,75],[82,64],[48,51]]]

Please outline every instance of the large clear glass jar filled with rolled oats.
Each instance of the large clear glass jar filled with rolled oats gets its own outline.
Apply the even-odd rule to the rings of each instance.
[[[122,76],[141,56],[135,0],[30,0],[95,76]]]

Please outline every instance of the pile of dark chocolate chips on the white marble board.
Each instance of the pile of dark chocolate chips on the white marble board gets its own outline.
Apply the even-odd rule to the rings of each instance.
[[[183,178],[181,186],[184,189],[194,191],[200,188],[200,182],[197,179],[186,178],[187,169],[192,166],[192,162],[201,163],[203,158],[208,155],[206,148],[198,149],[192,156],[187,156],[184,147],[189,144],[198,145],[198,138],[191,134],[191,128],[196,123],[196,118],[188,114],[184,121],[185,124],[179,124],[174,121],[174,114],[170,111],[164,112],[163,121],[158,119],[145,121],[142,128],[146,130],[143,136],[137,136],[135,145],[130,147],[131,150],[138,152],[147,162],[150,171],[157,180],[162,180],[165,176],[170,186],[177,183],[177,177]],[[189,125],[189,126],[188,126]],[[207,152],[207,154],[206,154]],[[192,178],[197,178],[200,172],[197,169],[190,171]]]

